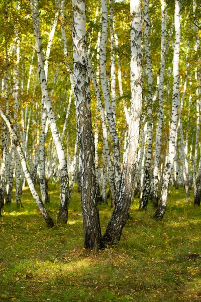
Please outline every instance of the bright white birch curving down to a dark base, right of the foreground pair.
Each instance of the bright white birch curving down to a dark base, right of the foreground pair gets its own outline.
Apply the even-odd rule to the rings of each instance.
[[[154,214],[154,218],[161,220],[165,214],[167,206],[167,195],[170,177],[173,169],[175,149],[176,149],[176,132],[177,132],[177,115],[179,104],[179,49],[180,49],[180,4],[179,0],[175,0],[175,13],[174,13],[174,25],[175,25],[175,43],[174,43],[174,57],[173,57],[173,94],[172,94],[172,114],[169,129],[169,152],[168,159],[165,166],[163,184],[160,196],[160,205]]]

